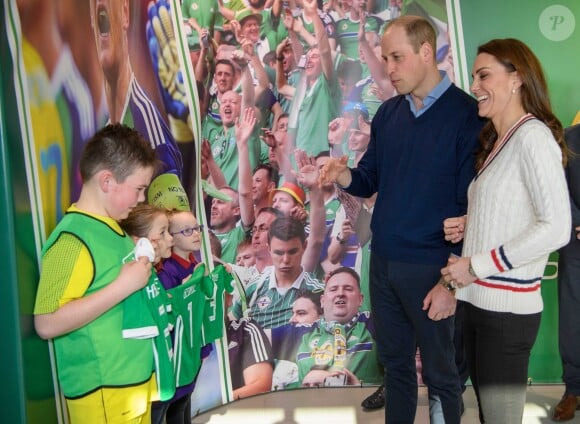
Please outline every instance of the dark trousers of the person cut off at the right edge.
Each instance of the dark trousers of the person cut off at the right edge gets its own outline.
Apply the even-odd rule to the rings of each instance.
[[[558,335],[566,392],[580,396],[580,241],[560,249]]]

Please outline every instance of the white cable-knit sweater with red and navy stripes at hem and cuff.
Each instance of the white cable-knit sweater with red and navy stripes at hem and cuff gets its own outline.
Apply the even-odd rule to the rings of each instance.
[[[548,256],[570,238],[561,151],[546,125],[530,118],[512,127],[525,121],[469,186],[462,256],[471,257],[478,280],[457,298],[489,311],[540,312]]]

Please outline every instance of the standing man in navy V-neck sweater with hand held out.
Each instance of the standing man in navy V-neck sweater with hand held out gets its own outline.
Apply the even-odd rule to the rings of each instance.
[[[442,223],[467,210],[483,122],[476,101],[437,69],[435,31],[425,19],[406,15],[391,21],[381,49],[399,95],[377,111],[357,167],[348,168],[345,158],[332,159],[321,182],[336,182],[360,197],[378,192],[370,295],[386,369],[385,422],[414,421],[418,345],[430,399],[440,401],[447,424],[456,424],[461,415],[453,344],[456,300],[454,288],[438,281],[460,246],[445,241]]]

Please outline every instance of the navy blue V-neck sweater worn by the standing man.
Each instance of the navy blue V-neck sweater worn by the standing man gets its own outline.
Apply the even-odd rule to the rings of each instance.
[[[369,197],[378,191],[371,250],[394,261],[445,264],[460,246],[446,242],[445,218],[467,211],[467,187],[483,120],[477,103],[451,85],[415,117],[404,96],[381,105],[371,140],[346,191]]]

